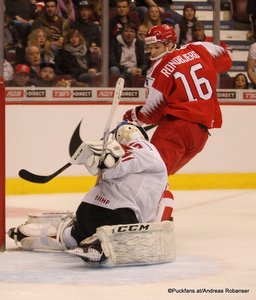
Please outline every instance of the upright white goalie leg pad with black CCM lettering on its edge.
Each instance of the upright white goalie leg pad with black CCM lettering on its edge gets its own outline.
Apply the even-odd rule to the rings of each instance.
[[[171,262],[176,257],[174,224],[138,223],[101,226],[96,235],[104,255],[102,265],[140,265]]]

